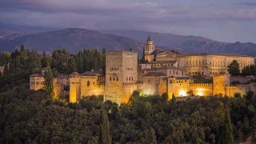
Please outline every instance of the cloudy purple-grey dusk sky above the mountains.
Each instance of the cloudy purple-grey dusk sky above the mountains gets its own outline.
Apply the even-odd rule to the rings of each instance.
[[[256,0],[0,0],[0,22],[256,42]]]

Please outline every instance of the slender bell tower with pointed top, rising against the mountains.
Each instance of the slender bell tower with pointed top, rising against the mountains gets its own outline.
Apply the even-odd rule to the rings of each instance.
[[[146,61],[148,62],[153,61],[154,55],[150,55],[153,51],[154,51],[154,42],[149,36],[149,38],[147,38],[146,40],[146,45],[144,47],[144,59]]]

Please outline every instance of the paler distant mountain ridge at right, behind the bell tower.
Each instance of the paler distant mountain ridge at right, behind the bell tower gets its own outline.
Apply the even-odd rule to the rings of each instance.
[[[145,42],[151,36],[154,44],[164,50],[180,50],[182,53],[226,53],[249,54],[256,56],[256,44],[251,42],[218,42],[199,36],[184,36],[177,34],[165,34],[145,32],[139,30],[100,30],[102,33],[118,34]]]

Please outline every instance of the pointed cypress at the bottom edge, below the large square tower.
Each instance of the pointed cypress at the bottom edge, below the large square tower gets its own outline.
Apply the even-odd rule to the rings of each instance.
[[[106,110],[103,109],[101,110],[101,135],[100,135],[100,142],[102,144],[110,144],[111,143],[111,137],[110,137],[110,122],[109,119],[107,118]]]

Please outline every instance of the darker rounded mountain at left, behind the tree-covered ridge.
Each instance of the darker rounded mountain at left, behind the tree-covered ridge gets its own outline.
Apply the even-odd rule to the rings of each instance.
[[[49,52],[57,48],[65,48],[71,52],[76,52],[84,48],[102,50],[103,47],[106,50],[128,50],[131,48],[142,51],[143,47],[142,42],[132,38],[78,28],[27,34],[14,39],[0,40],[1,51],[14,50],[22,44],[30,50]]]

